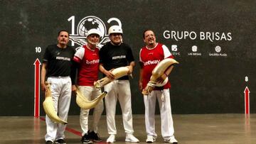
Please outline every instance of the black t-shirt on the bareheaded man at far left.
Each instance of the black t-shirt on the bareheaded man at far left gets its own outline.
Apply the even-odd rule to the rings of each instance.
[[[48,45],[43,55],[43,62],[47,63],[46,77],[71,76],[72,78],[74,54],[73,47],[58,48],[57,45]]]

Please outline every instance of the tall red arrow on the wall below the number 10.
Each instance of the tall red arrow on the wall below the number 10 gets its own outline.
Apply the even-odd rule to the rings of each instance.
[[[35,65],[35,93],[34,93],[34,116],[40,116],[40,65],[41,62],[36,59]]]

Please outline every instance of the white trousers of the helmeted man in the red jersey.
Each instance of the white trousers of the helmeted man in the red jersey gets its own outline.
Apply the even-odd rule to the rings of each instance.
[[[79,86],[80,92],[85,96],[86,99],[91,101],[92,99],[97,98],[100,96],[101,90],[96,89],[93,86]],[[95,106],[95,109],[93,110],[93,119],[92,119],[92,125],[90,125],[90,130],[95,131],[97,133],[97,126],[100,121],[100,116],[103,112],[103,101],[101,100],[97,106]],[[88,116],[89,116],[90,109],[80,109],[80,126],[82,128],[82,135],[85,135],[87,133],[88,129]]]

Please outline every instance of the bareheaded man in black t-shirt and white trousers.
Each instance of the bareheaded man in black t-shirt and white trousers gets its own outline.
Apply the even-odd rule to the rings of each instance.
[[[48,45],[43,56],[41,70],[41,87],[46,91],[47,82],[50,83],[53,105],[58,116],[67,121],[70,108],[71,92],[75,90],[75,69],[73,57],[75,50],[68,46],[68,31],[61,30],[58,33],[58,44]],[[71,77],[71,78],[70,78]],[[46,144],[65,143],[65,125],[54,123],[46,115]]]

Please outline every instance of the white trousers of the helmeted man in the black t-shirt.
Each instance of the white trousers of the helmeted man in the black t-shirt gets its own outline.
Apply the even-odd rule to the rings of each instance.
[[[117,99],[122,109],[122,119],[125,133],[134,133],[132,128],[132,101],[129,80],[114,80],[105,85],[105,106],[107,115],[107,131],[109,134],[117,134],[114,116],[116,113]]]

